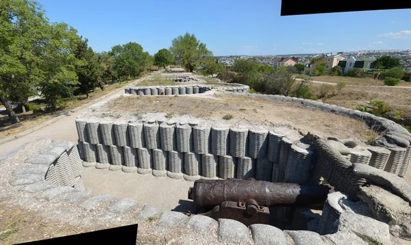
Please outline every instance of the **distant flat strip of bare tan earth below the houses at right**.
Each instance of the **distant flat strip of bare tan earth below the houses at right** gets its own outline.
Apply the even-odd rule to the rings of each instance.
[[[357,78],[357,77],[334,77],[334,76],[319,76],[312,77],[314,81],[325,81],[329,83],[345,82],[352,86],[384,86],[384,81],[372,78]],[[410,82],[401,81],[398,86],[411,87]]]

